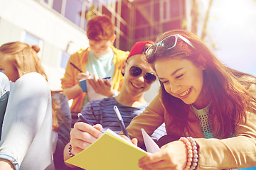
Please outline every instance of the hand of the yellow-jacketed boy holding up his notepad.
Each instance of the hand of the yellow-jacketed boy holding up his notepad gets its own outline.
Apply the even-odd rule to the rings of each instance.
[[[88,82],[97,94],[102,94],[107,97],[114,95],[110,79],[102,79],[101,77],[96,79],[95,75],[93,75],[93,79],[88,79]]]

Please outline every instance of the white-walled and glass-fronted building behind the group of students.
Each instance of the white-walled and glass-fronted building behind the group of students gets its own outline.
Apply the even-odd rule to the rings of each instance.
[[[130,50],[136,41],[156,40],[159,33],[183,28],[185,3],[185,0],[0,0],[0,44],[23,41],[38,45],[41,48],[38,56],[50,87],[60,89],[69,56],[89,46],[85,28],[92,16],[110,16],[117,35],[114,46]]]

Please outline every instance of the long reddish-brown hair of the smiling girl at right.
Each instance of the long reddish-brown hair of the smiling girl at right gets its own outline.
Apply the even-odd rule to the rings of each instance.
[[[202,40],[186,30],[170,30],[159,35],[156,42],[174,34],[187,38],[196,49],[178,38],[176,47],[166,50],[158,46],[156,53],[147,56],[146,60],[153,68],[154,62],[163,58],[182,58],[190,60],[196,66],[203,66],[203,87],[211,98],[210,113],[220,123],[217,135],[220,138],[230,137],[234,133],[235,125],[246,122],[246,111],[255,111],[253,104],[256,103],[256,99],[248,91],[250,85],[255,84],[255,77],[227,67],[210,52]],[[160,84],[159,94],[164,108],[174,117],[177,127],[183,130],[187,125],[190,106],[168,94],[161,81]]]

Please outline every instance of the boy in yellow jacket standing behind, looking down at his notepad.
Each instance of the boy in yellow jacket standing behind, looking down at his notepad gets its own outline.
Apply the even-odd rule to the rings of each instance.
[[[113,47],[116,36],[114,24],[108,16],[94,16],[87,23],[87,38],[90,47],[79,50],[70,56],[61,85],[68,99],[73,99],[70,108],[72,113],[80,113],[89,101],[87,93],[83,93],[79,81],[90,79],[90,84],[97,94],[114,96],[122,88],[124,77],[121,69],[129,52]],[[77,68],[73,66],[75,64]],[[112,77],[102,80],[103,77]],[[100,88],[99,88],[100,87]],[[76,114],[77,115],[77,114]]]

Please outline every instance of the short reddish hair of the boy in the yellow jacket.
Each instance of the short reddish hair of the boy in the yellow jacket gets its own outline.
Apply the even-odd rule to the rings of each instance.
[[[94,16],[87,23],[86,35],[89,40],[110,40],[114,35],[114,24],[109,16]]]

